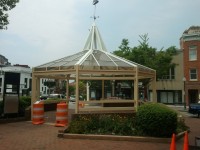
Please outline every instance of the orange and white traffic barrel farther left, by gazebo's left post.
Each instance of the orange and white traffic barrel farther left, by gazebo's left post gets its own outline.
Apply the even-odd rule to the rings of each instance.
[[[43,103],[33,104],[32,123],[35,125],[44,123],[44,104]]]

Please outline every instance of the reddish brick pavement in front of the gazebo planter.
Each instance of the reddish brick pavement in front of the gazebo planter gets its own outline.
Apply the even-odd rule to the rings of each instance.
[[[189,143],[200,135],[200,119],[186,117],[191,128]],[[31,122],[0,124],[0,150],[169,150],[169,143],[62,139],[57,137],[63,127],[32,125]],[[177,142],[177,150],[183,149],[183,139]]]

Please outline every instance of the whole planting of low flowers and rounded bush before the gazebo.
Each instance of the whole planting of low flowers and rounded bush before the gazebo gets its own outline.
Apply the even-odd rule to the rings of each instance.
[[[176,111],[164,104],[146,103],[136,114],[74,114],[65,133],[171,137],[188,129]]]

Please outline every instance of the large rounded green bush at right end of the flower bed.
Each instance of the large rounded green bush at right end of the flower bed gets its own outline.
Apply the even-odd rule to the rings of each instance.
[[[139,135],[171,137],[176,133],[177,113],[159,103],[146,103],[138,108],[136,131]]]

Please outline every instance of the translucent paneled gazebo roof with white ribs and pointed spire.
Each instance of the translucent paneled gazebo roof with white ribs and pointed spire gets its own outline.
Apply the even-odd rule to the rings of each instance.
[[[107,52],[100,32],[95,23],[93,23],[89,36],[86,40],[82,51],[51,61],[37,67],[34,72],[43,71],[64,71],[73,70],[79,66],[79,70],[96,70],[96,71],[123,71],[134,70],[136,67],[139,71],[155,73],[155,70],[126,60],[112,53]]]

